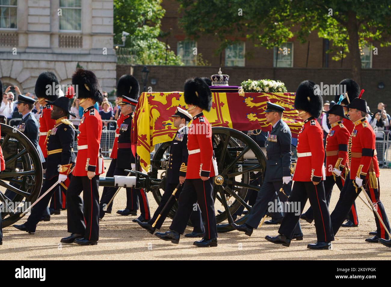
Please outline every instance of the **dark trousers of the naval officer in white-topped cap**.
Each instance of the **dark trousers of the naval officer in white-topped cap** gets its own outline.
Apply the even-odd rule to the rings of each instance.
[[[175,197],[171,199],[171,201],[167,205],[166,209],[163,210],[163,207],[166,205],[167,201],[169,201],[169,198],[170,198],[172,192],[174,191],[174,189],[177,187],[177,185],[178,184],[170,184],[170,183],[166,184],[166,188],[164,190],[164,193],[161,196],[160,204],[159,204],[158,208],[155,210],[155,213],[153,214],[152,218],[148,221],[148,223],[150,225],[154,224],[154,222],[156,221],[156,218],[158,218],[159,214],[161,213],[161,216],[155,225],[156,229],[161,228],[161,225],[163,224],[164,220],[167,218],[167,216],[171,210],[171,207],[174,206],[174,203],[176,201],[175,198],[178,199],[181,192],[182,192],[183,184],[179,186],[178,190],[175,193]],[[198,205],[195,209],[196,210],[194,210],[192,212],[192,214],[190,215],[190,221],[191,221],[192,225],[194,226],[193,231],[194,232],[205,232],[204,224],[203,224],[202,220],[200,221],[200,218],[202,219],[201,210],[199,209]],[[161,212],[162,210],[163,210],[163,212]]]

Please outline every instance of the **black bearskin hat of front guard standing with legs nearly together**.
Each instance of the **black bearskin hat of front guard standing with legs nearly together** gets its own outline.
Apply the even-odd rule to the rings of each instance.
[[[77,69],[72,75],[72,85],[76,87],[76,98],[90,98],[96,102],[103,101],[102,88],[92,71]]]

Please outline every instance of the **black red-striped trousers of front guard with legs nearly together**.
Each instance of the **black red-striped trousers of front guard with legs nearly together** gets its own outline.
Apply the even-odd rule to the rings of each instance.
[[[68,232],[99,239],[99,175],[72,176],[66,192]],[[83,191],[83,199],[80,194]]]

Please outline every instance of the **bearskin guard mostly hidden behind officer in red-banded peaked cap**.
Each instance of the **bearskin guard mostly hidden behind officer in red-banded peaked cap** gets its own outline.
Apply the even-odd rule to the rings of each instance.
[[[132,99],[137,99],[138,94],[140,92],[140,86],[138,81],[132,75],[122,75],[117,83],[117,103],[122,102],[122,97],[127,96]],[[113,149],[111,150],[110,158],[111,162],[109,168],[106,171],[107,177],[114,176],[115,166],[117,164],[117,152],[118,152],[118,137],[120,135],[120,127],[124,122],[124,115],[120,113],[117,119],[117,129],[115,130],[115,138],[113,143]],[[102,197],[100,198],[99,203],[99,218],[102,219],[105,213],[111,213],[111,208],[113,207],[113,202],[107,207],[107,210],[104,211],[103,207],[107,205],[107,203],[111,199],[111,195],[108,194],[110,187],[105,186],[103,188]],[[136,192],[133,190],[131,192],[126,191],[126,209],[118,210],[117,213],[120,215],[136,215],[138,209],[138,197]]]

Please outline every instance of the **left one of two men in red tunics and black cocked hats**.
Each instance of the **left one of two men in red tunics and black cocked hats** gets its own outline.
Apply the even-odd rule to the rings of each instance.
[[[326,137],[326,180],[323,182],[328,206],[334,184],[337,184],[341,191],[348,176],[349,165],[347,159],[350,133],[342,123],[342,119],[347,118],[341,105],[335,104],[330,111],[325,113],[328,114],[328,122],[331,125]],[[305,220],[311,223],[314,220],[312,207],[309,207],[305,213],[301,214],[301,218],[305,218]]]

